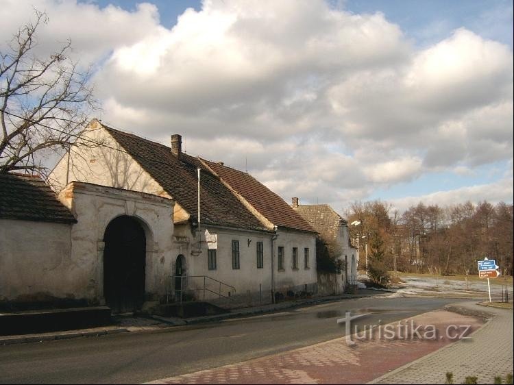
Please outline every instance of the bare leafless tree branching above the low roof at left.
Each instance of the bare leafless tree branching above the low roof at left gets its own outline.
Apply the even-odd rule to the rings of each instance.
[[[56,52],[34,55],[38,27],[48,22],[35,11],[35,21],[20,27],[0,52],[0,173],[45,171],[43,160],[69,150],[97,110],[90,71],[81,72],[66,55],[67,40]]]

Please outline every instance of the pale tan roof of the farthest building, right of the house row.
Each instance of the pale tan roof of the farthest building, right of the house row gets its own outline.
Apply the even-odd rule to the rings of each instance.
[[[341,222],[346,223],[330,205],[298,205],[294,210],[326,240],[336,236]]]

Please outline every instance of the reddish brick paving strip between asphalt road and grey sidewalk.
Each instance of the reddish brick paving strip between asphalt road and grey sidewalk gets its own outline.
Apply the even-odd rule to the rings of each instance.
[[[335,321],[335,320],[334,320]],[[404,320],[400,325],[434,325],[445,331],[448,325],[470,325],[477,330],[482,320],[437,310]],[[396,330],[398,323],[389,324]],[[385,326],[384,326],[385,330]],[[376,331],[376,330],[375,330]],[[360,330],[362,336],[362,330]],[[423,334],[423,333],[421,333]],[[407,337],[405,337],[407,336]],[[152,384],[363,384],[402,367],[452,343],[445,332],[433,340],[409,338],[387,340],[384,335],[348,345],[346,337],[284,353],[256,358],[223,367],[206,369],[151,382]]]

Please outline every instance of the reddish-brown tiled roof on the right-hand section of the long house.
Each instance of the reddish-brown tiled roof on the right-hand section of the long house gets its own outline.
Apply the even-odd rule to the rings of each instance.
[[[304,232],[316,232],[284,199],[258,182],[252,175],[208,160],[204,162],[274,225]]]

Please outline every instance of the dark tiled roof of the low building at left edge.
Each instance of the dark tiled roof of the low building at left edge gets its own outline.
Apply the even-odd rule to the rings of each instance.
[[[16,174],[0,174],[0,218],[77,222],[40,177]]]

